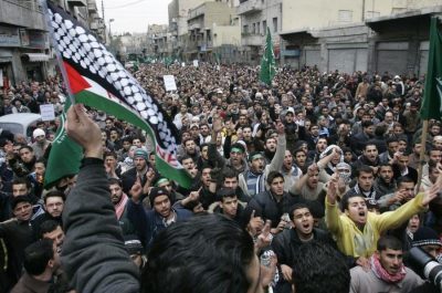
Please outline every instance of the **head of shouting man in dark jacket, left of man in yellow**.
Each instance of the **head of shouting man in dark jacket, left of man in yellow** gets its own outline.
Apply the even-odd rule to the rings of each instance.
[[[314,224],[314,218],[309,207],[306,203],[296,203],[291,208],[288,214],[299,239],[309,240],[313,236]]]

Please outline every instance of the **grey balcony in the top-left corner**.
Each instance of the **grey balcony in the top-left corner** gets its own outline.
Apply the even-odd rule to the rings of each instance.
[[[45,30],[41,8],[32,1],[0,0],[0,23]]]

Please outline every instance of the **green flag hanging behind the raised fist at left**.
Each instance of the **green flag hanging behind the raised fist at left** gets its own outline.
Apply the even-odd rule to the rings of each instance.
[[[66,112],[70,106],[71,101],[66,98],[63,114],[60,116],[60,127],[56,129],[55,138],[49,154],[46,172],[44,175],[45,189],[51,188],[67,175],[77,174],[80,169],[83,149],[78,144],[69,138],[64,128]]]

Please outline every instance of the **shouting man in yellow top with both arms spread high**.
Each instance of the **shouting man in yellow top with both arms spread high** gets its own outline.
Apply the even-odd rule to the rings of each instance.
[[[419,193],[399,209],[381,214],[368,211],[366,198],[362,195],[347,193],[341,200],[343,213],[339,214],[336,203],[337,178],[335,177],[328,182],[325,202],[326,223],[339,250],[367,264],[366,258],[375,252],[380,234],[389,229],[398,228],[411,216],[423,211],[438,196],[440,188],[439,180],[430,190]]]

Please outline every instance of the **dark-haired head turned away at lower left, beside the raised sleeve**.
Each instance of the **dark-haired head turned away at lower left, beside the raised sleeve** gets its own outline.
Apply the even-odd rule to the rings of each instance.
[[[30,275],[54,273],[60,268],[60,257],[50,239],[38,240],[24,250],[23,266]]]

